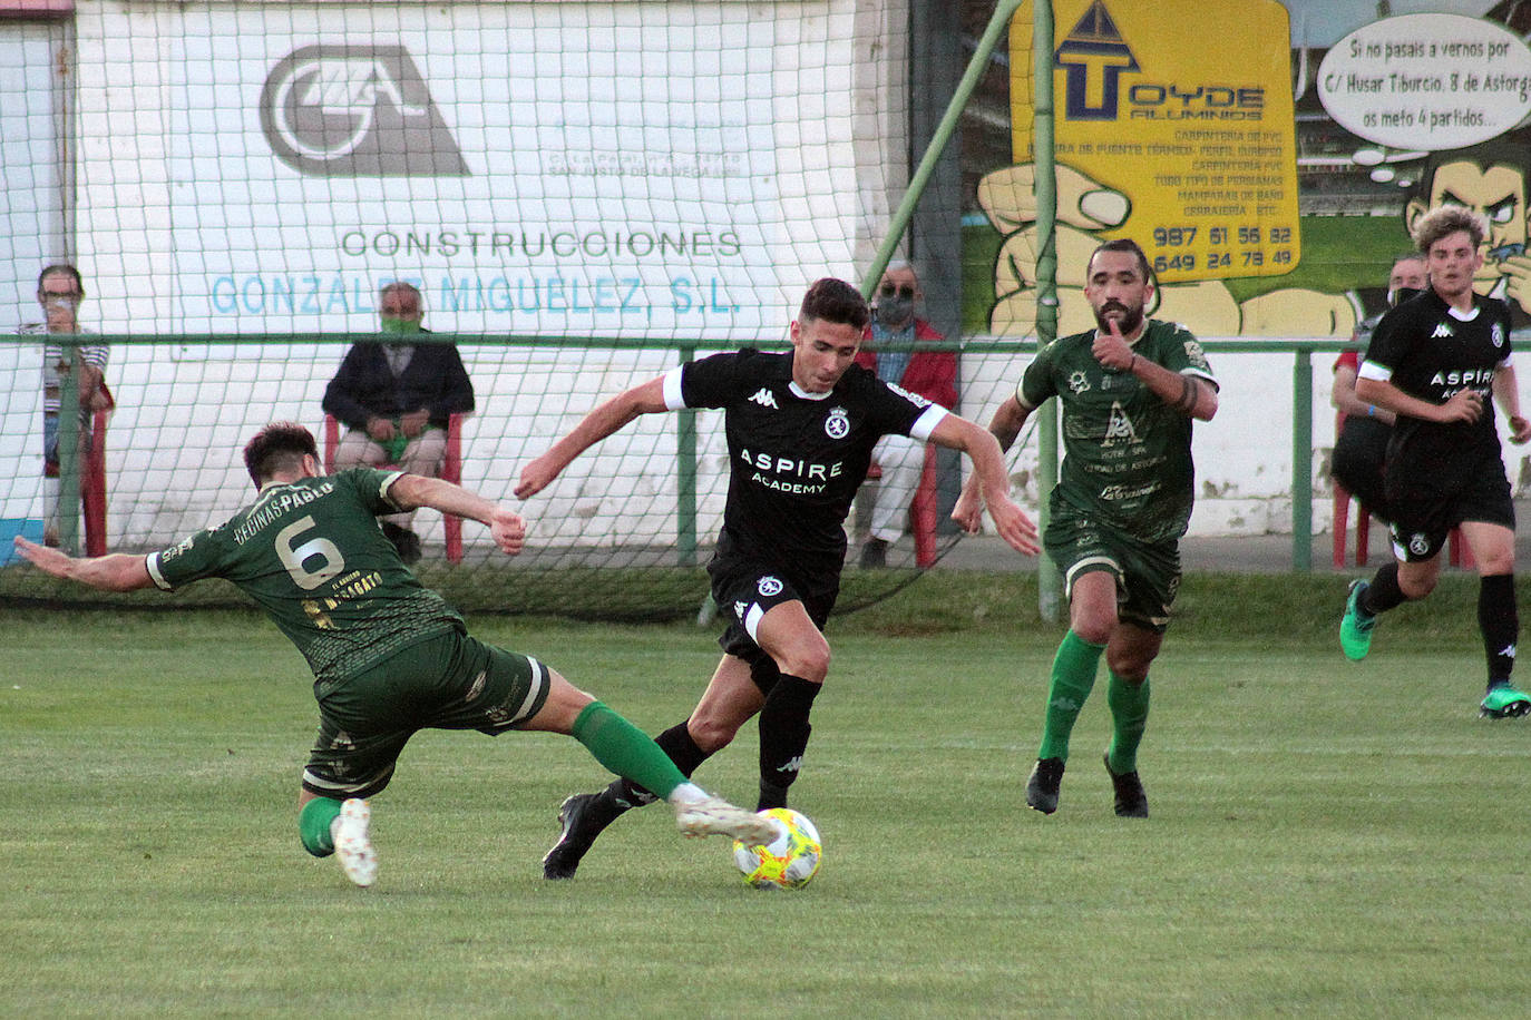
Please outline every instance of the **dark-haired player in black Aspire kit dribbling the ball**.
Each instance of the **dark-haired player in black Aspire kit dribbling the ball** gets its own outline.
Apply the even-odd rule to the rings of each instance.
[[[808,711],[830,668],[824,624],[839,595],[845,515],[886,433],[966,451],[1000,535],[1036,552],[1036,528],[1009,497],[1004,454],[984,428],[882,382],[854,364],[870,312],[860,292],[825,278],[792,323],[792,350],[690,361],[602,404],[521,473],[516,495],[544,489],[591,445],[640,414],[723,408],[729,497],[707,566],[729,624],[723,661],[684,722],[655,737],[684,775],[759,714],[758,809],[784,807],[808,746]],[[634,783],[576,794],[547,878],[571,878],[596,836],[654,797]]]

